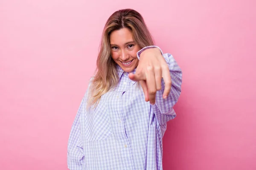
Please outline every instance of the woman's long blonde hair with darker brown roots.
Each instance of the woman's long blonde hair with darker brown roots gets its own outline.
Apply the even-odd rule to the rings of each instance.
[[[153,38],[141,14],[133,9],[122,9],[114,12],[107,20],[99,47],[96,75],[90,85],[87,108],[97,105],[101,96],[111,88],[116,87],[119,77],[116,71],[116,62],[111,57],[110,34],[122,28],[131,30],[140,48],[154,45]]]

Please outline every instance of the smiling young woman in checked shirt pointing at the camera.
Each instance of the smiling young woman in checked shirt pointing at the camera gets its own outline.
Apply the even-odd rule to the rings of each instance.
[[[154,46],[132,9],[109,17],[70,133],[70,170],[162,170],[162,138],[175,118],[182,72]]]

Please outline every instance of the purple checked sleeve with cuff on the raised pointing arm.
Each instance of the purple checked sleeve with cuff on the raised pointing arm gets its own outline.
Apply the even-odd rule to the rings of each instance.
[[[159,48],[157,46],[148,46],[140,51],[137,52],[137,57],[140,57],[140,54],[142,51],[144,51],[147,48]],[[160,49],[160,48],[159,48]],[[161,49],[160,49],[161,51]],[[182,71],[180,67],[177,65],[177,62],[173,58],[171,54],[163,54],[161,51],[164,59],[166,60],[167,65],[169,66],[169,71],[172,79],[172,87],[169,95],[166,99],[163,99],[163,91],[164,91],[164,81],[162,78],[162,89],[160,91],[157,91],[156,94],[156,102],[154,105],[152,105],[152,109],[154,111],[154,114],[157,117],[157,121],[159,124],[166,129],[166,122],[168,122],[171,119],[174,119],[176,116],[176,113],[173,109],[173,106],[176,104],[180,97],[181,93],[181,82],[182,82]],[[139,58],[140,59],[140,58]]]

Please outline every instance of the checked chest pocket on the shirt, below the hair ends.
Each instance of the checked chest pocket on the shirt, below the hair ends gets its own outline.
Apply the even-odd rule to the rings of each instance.
[[[111,135],[108,109],[103,95],[96,108],[91,108],[84,115],[84,138],[87,142],[107,140]]]

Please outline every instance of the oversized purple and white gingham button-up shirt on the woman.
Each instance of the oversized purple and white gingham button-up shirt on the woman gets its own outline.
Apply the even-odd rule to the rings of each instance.
[[[162,138],[166,123],[176,116],[173,106],[180,96],[182,78],[172,55],[163,57],[169,65],[172,88],[163,99],[162,79],[155,105],[145,102],[143,90],[119,66],[117,87],[104,94],[96,108],[86,110],[87,93],[84,95],[68,141],[70,170],[163,169]]]

